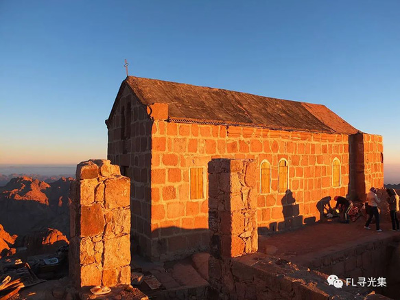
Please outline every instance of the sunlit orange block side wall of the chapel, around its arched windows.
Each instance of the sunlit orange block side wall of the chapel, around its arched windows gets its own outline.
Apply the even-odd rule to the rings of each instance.
[[[259,228],[261,231],[285,230],[319,220],[318,202],[321,199],[346,196],[349,185],[348,139],[347,135],[154,122],[150,256],[157,259],[161,255],[168,256],[168,252],[198,251],[208,244],[208,193],[202,199],[190,199],[190,168],[202,167],[207,172],[207,164],[213,158],[254,159],[259,192],[260,164],[269,161],[272,190],[270,194],[257,196]],[[340,187],[331,186],[335,158],[341,162]],[[281,159],[286,159],[289,165],[287,193],[278,192],[278,163]],[[206,180],[205,190],[208,189]],[[169,250],[170,247],[174,249]]]

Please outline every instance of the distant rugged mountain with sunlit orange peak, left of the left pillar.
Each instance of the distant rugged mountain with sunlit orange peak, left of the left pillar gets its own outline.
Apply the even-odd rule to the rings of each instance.
[[[46,183],[20,176],[0,187],[0,224],[11,235],[27,235],[47,228],[69,236],[69,187],[74,179]]]

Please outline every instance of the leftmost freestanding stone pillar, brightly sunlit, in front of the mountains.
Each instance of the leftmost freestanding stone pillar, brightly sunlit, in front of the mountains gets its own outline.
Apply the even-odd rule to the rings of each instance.
[[[130,284],[130,179],[89,160],[71,185],[69,276],[78,288]]]

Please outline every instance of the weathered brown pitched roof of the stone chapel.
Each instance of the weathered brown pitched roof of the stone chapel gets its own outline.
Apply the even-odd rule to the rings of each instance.
[[[125,82],[143,104],[168,104],[172,122],[210,122],[341,134],[359,132],[320,104],[134,76],[128,76]]]

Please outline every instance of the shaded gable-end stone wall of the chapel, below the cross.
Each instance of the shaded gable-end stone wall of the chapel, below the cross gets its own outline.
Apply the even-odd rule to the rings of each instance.
[[[135,253],[150,252],[150,163],[152,120],[125,86],[116,102],[115,113],[108,120],[108,152],[111,163],[131,179],[132,245]],[[129,124],[128,124],[129,123]],[[140,246],[138,246],[140,245]]]

